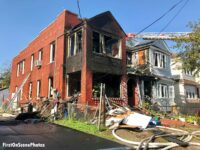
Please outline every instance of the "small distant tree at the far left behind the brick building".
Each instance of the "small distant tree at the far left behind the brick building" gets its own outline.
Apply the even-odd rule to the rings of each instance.
[[[5,68],[1,69],[1,86],[2,87],[9,87],[10,85],[10,66],[6,66]]]

